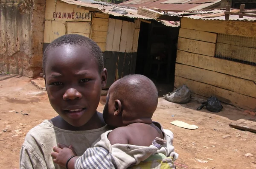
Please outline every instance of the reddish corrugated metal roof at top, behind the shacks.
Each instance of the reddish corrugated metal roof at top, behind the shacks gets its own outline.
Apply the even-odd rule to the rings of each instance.
[[[208,8],[220,2],[221,0],[129,0],[119,5],[185,11]]]

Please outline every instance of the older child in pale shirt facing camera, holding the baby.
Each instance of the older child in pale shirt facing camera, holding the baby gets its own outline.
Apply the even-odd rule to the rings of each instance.
[[[53,163],[52,146],[72,144],[77,155],[82,155],[108,130],[96,111],[107,70],[95,42],[76,34],[55,39],[44,52],[43,71],[49,102],[58,116],[27,133],[20,169],[64,169]]]

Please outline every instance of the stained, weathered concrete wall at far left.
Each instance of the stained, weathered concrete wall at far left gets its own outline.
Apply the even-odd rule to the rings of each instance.
[[[45,0],[22,13],[22,2],[0,4],[0,70],[35,77],[41,73]]]

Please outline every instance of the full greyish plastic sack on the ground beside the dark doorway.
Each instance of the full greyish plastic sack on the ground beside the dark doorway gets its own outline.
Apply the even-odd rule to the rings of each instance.
[[[163,97],[173,103],[180,103],[185,104],[188,103],[191,99],[191,93],[189,88],[186,85],[183,85],[176,90],[174,90],[172,93],[169,93],[167,95],[163,95]]]

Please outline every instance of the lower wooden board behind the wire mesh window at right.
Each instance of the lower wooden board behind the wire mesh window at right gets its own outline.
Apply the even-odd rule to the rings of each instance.
[[[256,48],[247,48],[243,46],[217,43],[216,55],[247,62],[256,62]]]

